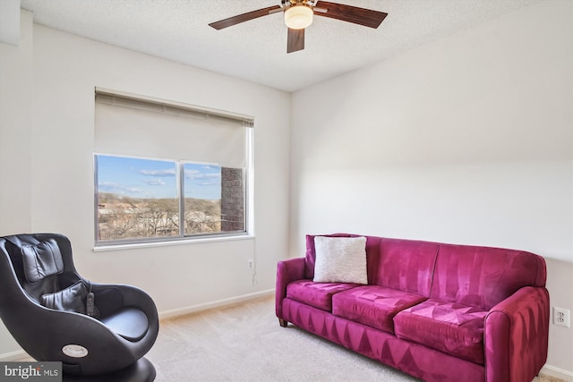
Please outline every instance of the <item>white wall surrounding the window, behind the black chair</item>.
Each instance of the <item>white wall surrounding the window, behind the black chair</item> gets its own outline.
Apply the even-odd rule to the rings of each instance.
[[[288,245],[287,93],[47,29],[25,12],[20,46],[0,48],[0,235],[64,233],[83,276],[138,285],[160,312],[274,289]],[[94,252],[95,87],[253,115],[256,238]],[[18,350],[1,326],[0,355]]]

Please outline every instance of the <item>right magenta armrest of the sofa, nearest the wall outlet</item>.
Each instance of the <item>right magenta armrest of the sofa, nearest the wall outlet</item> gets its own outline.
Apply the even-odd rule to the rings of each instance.
[[[483,341],[488,382],[530,382],[547,361],[549,293],[526,286],[485,318]]]

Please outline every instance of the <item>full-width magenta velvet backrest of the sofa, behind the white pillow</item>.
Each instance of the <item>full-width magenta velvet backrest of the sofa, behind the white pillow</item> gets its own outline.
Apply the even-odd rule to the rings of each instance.
[[[306,236],[304,261],[304,276],[311,280],[316,262],[314,237]],[[523,250],[365,237],[368,284],[480,310],[492,309],[523,286],[545,286],[545,260]]]

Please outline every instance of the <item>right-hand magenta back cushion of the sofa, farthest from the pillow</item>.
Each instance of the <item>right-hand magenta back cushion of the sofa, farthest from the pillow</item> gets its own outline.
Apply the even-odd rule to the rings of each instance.
[[[440,244],[432,299],[490,310],[522,286],[544,286],[545,260],[522,250]]]

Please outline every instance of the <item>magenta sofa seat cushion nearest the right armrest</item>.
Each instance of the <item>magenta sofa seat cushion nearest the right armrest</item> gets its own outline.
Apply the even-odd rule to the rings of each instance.
[[[398,338],[483,365],[483,322],[487,311],[456,302],[423,301],[394,318]]]

